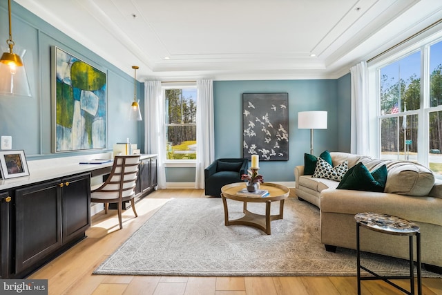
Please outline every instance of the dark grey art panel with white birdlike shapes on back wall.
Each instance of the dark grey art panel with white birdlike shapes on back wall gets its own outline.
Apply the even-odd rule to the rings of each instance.
[[[242,156],[289,160],[289,94],[242,94]]]

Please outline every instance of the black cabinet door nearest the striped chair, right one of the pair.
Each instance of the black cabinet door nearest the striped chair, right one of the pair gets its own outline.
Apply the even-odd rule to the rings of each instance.
[[[89,173],[61,180],[61,215],[63,216],[63,244],[84,236],[90,227],[90,176]]]

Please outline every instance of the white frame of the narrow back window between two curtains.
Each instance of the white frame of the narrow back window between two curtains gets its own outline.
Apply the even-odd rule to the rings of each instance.
[[[198,104],[198,88],[196,86],[196,82],[162,82],[161,85],[161,91],[162,91],[162,97],[163,97],[163,104],[164,104],[164,122],[162,126],[162,130],[164,132],[164,137],[166,137],[167,133],[167,126],[173,125],[173,124],[167,124],[166,123],[166,90],[167,89],[184,89],[184,88],[194,88],[197,91],[197,104]],[[195,127],[198,129],[198,122],[195,122]],[[163,152],[164,155],[166,154],[166,142],[163,143]],[[196,159],[192,160],[171,160],[166,159],[166,156],[164,157],[164,166],[165,167],[196,167]]]

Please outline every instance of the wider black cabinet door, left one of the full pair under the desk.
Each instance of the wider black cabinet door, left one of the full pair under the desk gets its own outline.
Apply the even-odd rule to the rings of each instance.
[[[61,246],[60,180],[15,191],[15,273]]]

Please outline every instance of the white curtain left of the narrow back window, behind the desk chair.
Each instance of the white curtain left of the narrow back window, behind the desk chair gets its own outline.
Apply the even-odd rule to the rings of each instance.
[[[166,189],[164,158],[164,102],[160,81],[144,83],[144,153],[155,153],[157,157],[158,189]]]

